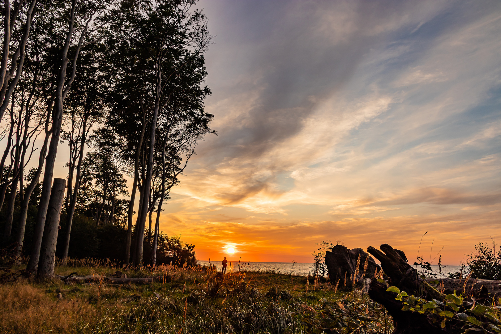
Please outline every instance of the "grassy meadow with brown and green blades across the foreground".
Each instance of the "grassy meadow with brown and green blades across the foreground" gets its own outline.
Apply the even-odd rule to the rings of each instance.
[[[360,290],[335,291],[312,277],[276,272],[228,273],[172,265],[117,267],[69,261],[67,275],[166,277],[166,283],[91,284],[26,278],[0,285],[2,333],[390,333],[384,308]],[[57,295],[61,293],[62,299]],[[157,297],[156,294],[159,297]],[[324,328],[324,329],[322,329]],[[329,328],[329,329],[327,329]]]

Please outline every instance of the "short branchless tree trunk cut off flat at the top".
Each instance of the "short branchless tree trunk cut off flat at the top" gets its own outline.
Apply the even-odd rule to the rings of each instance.
[[[45,221],[44,236],[42,239],[42,249],[38,266],[38,276],[41,278],[54,277],[54,265],[56,262],[56,243],[58,240],[59,219],[61,218],[61,207],[63,206],[64,190],[66,179],[54,179],[49,209]]]

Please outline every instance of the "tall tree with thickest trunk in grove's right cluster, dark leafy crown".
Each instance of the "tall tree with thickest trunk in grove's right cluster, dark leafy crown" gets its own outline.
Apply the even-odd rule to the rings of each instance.
[[[112,26],[113,39],[108,44],[112,46],[111,49],[117,50],[118,55],[114,59],[122,60],[125,67],[132,67],[140,78],[136,83],[139,85],[137,91],[143,93],[139,96],[139,105],[148,113],[148,119],[151,118],[147,127],[147,140],[137,145],[137,149],[142,152],[137,154],[136,151],[136,157],[143,155],[145,159],[142,166],[134,166],[140,192],[133,252],[135,264],[143,262],[143,238],[140,236],[144,234],[151,205],[155,205],[150,203],[150,196],[154,158],[158,150],[159,120],[176,118],[172,114],[176,109],[167,106],[179,89],[193,84],[190,80],[193,73],[202,73],[202,80],[206,75],[203,53],[210,44],[211,37],[207,32],[205,17],[199,11],[191,11],[194,4],[194,0],[162,0],[154,3],[130,0],[122,2],[114,12],[116,24]],[[121,72],[116,75],[128,77]],[[200,81],[196,85],[199,88]],[[204,95],[207,93],[208,89]],[[164,129],[169,131],[170,128],[167,126]],[[160,134],[159,137],[165,136]],[[142,169],[142,172],[139,173],[138,169]],[[133,198],[131,207],[132,205]]]

